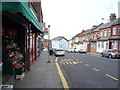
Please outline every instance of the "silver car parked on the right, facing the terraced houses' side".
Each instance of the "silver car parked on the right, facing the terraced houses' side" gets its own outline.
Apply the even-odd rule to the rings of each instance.
[[[120,53],[117,53],[114,49],[107,49],[101,52],[101,56],[109,58],[120,58]]]

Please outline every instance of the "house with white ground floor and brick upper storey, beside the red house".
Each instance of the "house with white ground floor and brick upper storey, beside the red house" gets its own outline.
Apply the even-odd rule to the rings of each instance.
[[[99,36],[100,38],[98,39],[98,48],[97,52],[101,53],[104,49],[110,49],[109,46],[109,38],[111,37],[111,31],[112,31],[112,25],[116,23],[117,19],[112,16],[110,16],[110,22],[104,24],[100,29],[99,29]]]

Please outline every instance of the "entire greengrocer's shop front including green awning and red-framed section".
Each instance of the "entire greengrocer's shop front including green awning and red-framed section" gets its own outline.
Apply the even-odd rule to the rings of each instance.
[[[36,60],[36,33],[41,32],[25,2],[2,3],[2,84],[12,85],[13,79],[30,71]]]

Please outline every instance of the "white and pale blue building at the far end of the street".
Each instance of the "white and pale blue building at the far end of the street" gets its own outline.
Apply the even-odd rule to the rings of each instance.
[[[68,40],[65,37],[59,36],[51,40],[53,49],[68,49]]]

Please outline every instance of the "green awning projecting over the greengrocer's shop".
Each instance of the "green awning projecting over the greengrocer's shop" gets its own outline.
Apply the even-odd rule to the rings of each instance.
[[[40,22],[35,18],[27,3],[24,0],[17,0],[16,2],[2,2],[2,10],[11,13],[22,13],[39,31],[43,32]]]

